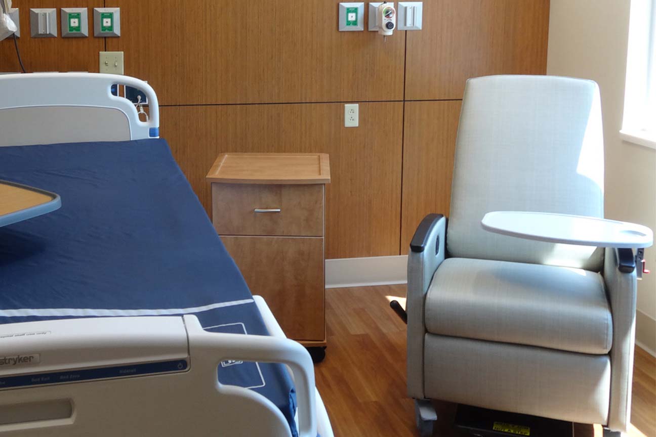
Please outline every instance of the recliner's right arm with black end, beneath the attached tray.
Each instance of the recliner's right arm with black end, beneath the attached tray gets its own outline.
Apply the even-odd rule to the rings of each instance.
[[[630,269],[629,269],[630,267]],[[604,284],[613,317],[611,405],[607,426],[626,431],[631,409],[631,379],[636,333],[638,280],[630,249],[605,249]]]

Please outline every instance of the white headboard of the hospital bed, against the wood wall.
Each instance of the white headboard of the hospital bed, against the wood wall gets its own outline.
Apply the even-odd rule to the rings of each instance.
[[[112,94],[129,85],[148,99],[150,119]],[[159,105],[153,88],[134,77],[98,73],[0,75],[0,147],[44,143],[159,138]]]

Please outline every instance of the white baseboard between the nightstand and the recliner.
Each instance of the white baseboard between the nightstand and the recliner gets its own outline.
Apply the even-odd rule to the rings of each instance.
[[[407,283],[407,255],[326,259],[326,288]]]

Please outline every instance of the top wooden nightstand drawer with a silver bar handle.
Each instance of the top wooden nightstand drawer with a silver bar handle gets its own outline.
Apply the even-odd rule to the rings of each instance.
[[[212,184],[220,235],[323,236],[323,184]]]

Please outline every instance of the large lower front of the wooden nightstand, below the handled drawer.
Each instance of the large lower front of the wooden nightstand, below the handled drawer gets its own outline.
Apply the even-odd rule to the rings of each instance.
[[[221,236],[251,293],[287,337],[325,341],[323,238]]]

